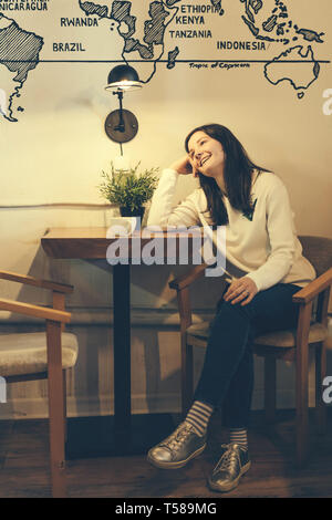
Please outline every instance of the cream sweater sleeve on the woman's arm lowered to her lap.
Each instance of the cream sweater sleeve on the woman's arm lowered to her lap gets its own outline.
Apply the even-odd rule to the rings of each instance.
[[[279,283],[292,267],[295,252],[295,233],[289,196],[283,183],[274,179],[267,191],[267,261],[247,277],[259,291]]]

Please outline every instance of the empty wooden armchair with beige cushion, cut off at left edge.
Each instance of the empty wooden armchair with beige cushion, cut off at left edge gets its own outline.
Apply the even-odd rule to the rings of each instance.
[[[53,309],[0,299],[1,311],[45,320],[45,333],[0,335],[0,375],[7,383],[48,378],[52,496],[65,497],[65,371],[76,363],[77,342],[74,334],[62,331],[71,319],[64,299],[73,287],[8,271],[0,271],[0,279],[53,292]]]

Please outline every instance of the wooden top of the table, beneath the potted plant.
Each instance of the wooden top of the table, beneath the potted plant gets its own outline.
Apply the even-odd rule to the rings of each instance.
[[[195,233],[195,231],[194,231]],[[196,231],[201,237],[199,230]],[[115,240],[128,241],[128,256],[132,256],[134,241],[139,242],[142,250],[152,238],[164,240],[166,243],[175,240],[175,254],[178,258],[179,243],[181,240],[188,240],[188,247],[191,248],[190,235],[188,231],[147,231],[144,228],[141,231],[134,231],[128,236],[110,236],[108,228],[105,227],[84,227],[84,228],[52,228],[48,229],[41,239],[41,245],[45,253],[51,258],[62,259],[105,259],[110,245]],[[189,251],[190,253],[190,251]]]

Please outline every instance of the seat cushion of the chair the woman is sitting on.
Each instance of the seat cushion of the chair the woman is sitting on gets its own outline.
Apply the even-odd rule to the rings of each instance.
[[[187,329],[188,344],[199,344],[196,339],[206,341],[209,334],[209,322],[195,323]],[[328,329],[321,323],[312,323],[309,332],[309,343],[324,341],[328,337]],[[270,345],[277,347],[295,346],[295,331],[269,332],[255,339],[257,345]]]

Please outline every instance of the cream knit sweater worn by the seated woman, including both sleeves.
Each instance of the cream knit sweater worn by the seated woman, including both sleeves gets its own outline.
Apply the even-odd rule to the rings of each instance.
[[[173,169],[163,171],[147,226],[210,226],[207,199],[201,188],[173,207],[178,176]],[[228,278],[248,275],[259,291],[279,282],[307,285],[315,278],[315,272],[302,256],[283,183],[276,174],[255,171],[251,200],[256,200],[252,220],[235,210],[224,197],[229,219],[226,226]]]

